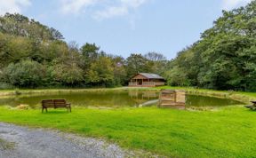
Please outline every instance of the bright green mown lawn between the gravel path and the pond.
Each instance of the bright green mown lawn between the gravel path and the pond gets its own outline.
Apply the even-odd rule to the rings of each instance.
[[[156,107],[10,110],[0,107],[0,121],[106,138],[120,146],[173,157],[253,157],[256,112],[244,107],[184,111]]]

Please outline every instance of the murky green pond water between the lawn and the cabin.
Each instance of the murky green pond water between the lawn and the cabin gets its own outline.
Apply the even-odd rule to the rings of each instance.
[[[42,99],[67,99],[77,107],[138,107],[149,100],[158,99],[157,91],[80,91],[49,94],[20,95],[0,98],[0,105],[11,107],[20,104],[40,107]],[[243,104],[232,99],[219,99],[195,95],[186,96],[186,107],[221,107]],[[156,105],[156,104],[155,104]]]

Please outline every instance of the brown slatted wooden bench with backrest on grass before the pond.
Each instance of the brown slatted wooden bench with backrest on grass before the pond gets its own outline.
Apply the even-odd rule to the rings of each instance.
[[[44,99],[42,100],[42,113],[44,109],[47,112],[47,108],[60,108],[64,107],[71,113],[71,104],[66,102],[66,99]]]

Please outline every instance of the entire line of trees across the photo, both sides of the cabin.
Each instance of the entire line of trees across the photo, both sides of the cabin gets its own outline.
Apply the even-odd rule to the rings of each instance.
[[[132,75],[163,75],[174,86],[256,91],[256,1],[223,15],[200,40],[167,60],[157,52],[128,58],[95,43],[66,43],[61,33],[20,14],[0,17],[0,88],[115,87]]]

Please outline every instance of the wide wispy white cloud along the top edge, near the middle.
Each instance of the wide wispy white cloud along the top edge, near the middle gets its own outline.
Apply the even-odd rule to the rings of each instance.
[[[92,18],[96,20],[124,16],[149,0],[60,0],[61,12],[79,14],[94,6]]]

